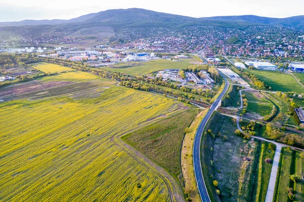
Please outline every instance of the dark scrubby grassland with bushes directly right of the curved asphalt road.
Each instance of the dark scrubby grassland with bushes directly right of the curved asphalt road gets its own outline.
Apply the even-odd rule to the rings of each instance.
[[[236,136],[235,130],[234,120],[219,113],[212,115],[204,130],[201,160],[211,201],[249,201],[252,198],[258,143]],[[218,181],[217,188],[213,180]],[[216,189],[220,190],[221,198]]]

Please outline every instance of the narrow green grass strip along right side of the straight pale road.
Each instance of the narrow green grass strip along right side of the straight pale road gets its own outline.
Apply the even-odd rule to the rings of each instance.
[[[286,202],[288,195],[286,188],[289,187],[289,175],[290,175],[290,166],[292,162],[292,150],[283,147],[280,157],[279,170],[277,176],[277,184],[274,201],[275,202]]]

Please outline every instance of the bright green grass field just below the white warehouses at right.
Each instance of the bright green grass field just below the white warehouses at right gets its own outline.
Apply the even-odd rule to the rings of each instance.
[[[265,71],[246,69],[245,71],[255,74],[265,85],[270,86],[272,91],[304,93],[304,89],[296,82],[292,75],[278,71]]]

